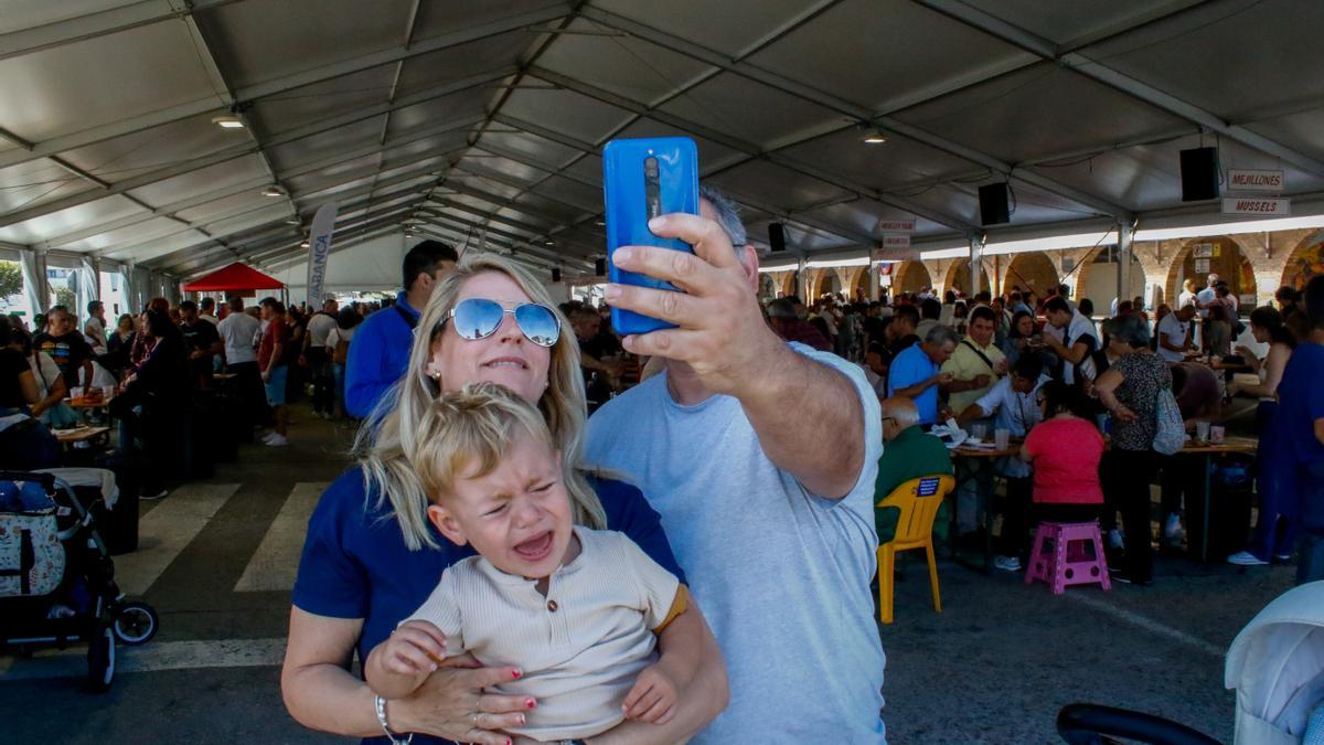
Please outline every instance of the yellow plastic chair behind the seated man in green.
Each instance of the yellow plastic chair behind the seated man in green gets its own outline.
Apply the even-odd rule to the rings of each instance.
[[[933,558],[933,518],[943,498],[956,488],[952,476],[920,476],[892,489],[879,508],[890,506],[900,510],[896,517],[896,534],[891,541],[878,546],[878,618],[883,623],[892,622],[892,574],[896,569],[896,551],[924,549],[928,554],[928,581],[933,587],[933,610],[943,612],[943,598],[937,591],[937,561]]]

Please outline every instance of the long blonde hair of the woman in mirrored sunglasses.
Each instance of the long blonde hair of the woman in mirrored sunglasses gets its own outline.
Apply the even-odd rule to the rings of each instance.
[[[408,456],[418,451],[422,436],[420,423],[442,390],[441,380],[428,375],[432,347],[441,337],[446,315],[455,306],[465,282],[489,272],[510,277],[531,301],[545,305],[556,314],[561,334],[551,350],[547,390],[538,400],[538,410],[547,422],[552,441],[561,451],[561,475],[571,496],[575,522],[598,529],[606,526],[602,504],[579,468],[588,406],[584,400],[579,345],[573,334],[568,333],[569,325],[543,285],[524,268],[500,256],[470,253],[433,289],[428,308],[422,310],[414,329],[405,374],[364,420],[354,444],[368,493],[377,494],[377,508],[385,508],[389,502],[391,513],[400,522],[400,532],[410,550],[440,547],[428,524],[428,494]]]

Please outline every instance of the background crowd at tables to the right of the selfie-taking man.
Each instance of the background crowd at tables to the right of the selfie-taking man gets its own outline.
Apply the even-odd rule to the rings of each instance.
[[[1189,502],[1202,479],[1193,459],[1156,451],[1166,395],[1190,433],[1221,424],[1234,395],[1258,399],[1259,517],[1245,550],[1229,562],[1291,561],[1296,537],[1305,525],[1319,524],[1324,505],[1312,492],[1319,459],[1311,456],[1320,439],[1294,422],[1309,412],[1319,418],[1317,408],[1305,406],[1316,394],[1283,386],[1294,359],[1298,370],[1311,370],[1296,350],[1319,334],[1312,298],[1324,302],[1321,280],[1304,292],[1282,288],[1276,308],[1243,314],[1227,282],[1210,274],[1200,292],[1188,280],[1176,309],[1158,305],[1153,319],[1137,297],[1113,301],[1102,325],[1091,300],[1072,301],[1066,285],[1042,296],[1018,286],[1000,297],[949,290],[941,300],[924,290],[890,302],[847,302],[835,293],[812,306],[782,297],[765,312],[784,339],[834,350],[857,362],[874,384],[884,416],[894,422],[890,445],[900,445],[884,451],[878,500],[922,475],[916,463],[937,468],[933,473],[952,472],[949,461],[935,467],[923,455],[941,451],[918,444],[916,435],[902,436],[911,426],[941,431],[951,420],[969,430],[1006,430],[1009,439],[1023,443],[1021,455],[961,480],[957,530],[977,536],[982,529],[978,510],[990,508],[996,473],[1005,483],[997,567],[1021,570],[1027,532],[1039,520],[1087,517],[1108,537],[1115,578],[1147,585],[1151,484],[1161,473],[1160,538],[1178,545],[1182,498]],[[1255,374],[1258,383],[1234,382],[1235,371]],[[890,520],[879,514],[880,534],[890,533]],[[1298,569],[1301,581],[1324,571],[1308,549]]]

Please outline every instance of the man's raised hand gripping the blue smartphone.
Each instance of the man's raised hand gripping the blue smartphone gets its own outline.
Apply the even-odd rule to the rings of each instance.
[[[625,349],[687,362],[708,390],[735,394],[786,350],[764,322],[736,249],[722,225],[695,215],[654,217],[649,229],[683,240],[694,253],[632,245],[618,248],[612,261],[621,269],[667,280],[683,292],[610,284],[606,301],[679,327],[625,337]]]

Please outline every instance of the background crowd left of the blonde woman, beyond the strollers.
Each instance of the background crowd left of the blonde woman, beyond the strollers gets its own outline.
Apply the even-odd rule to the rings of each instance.
[[[36,315],[32,326],[21,315],[0,317],[0,461],[5,468],[60,465],[54,431],[109,418],[118,426],[119,455],[138,453],[147,464],[140,467],[143,498],[160,498],[167,480],[188,473],[183,461],[192,456],[192,419],[208,416],[195,410],[209,394],[233,396],[237,411],[228,414],[242,426],[269,428],[262,439],[271,447],[289,444],[286,403],[305,390],[314,416],[348,416],[343,383],[350,342],[379,309],[376,302],[342,309],[335,300],[320,309],[286,308],[274,297],[245,306],[244,297],[232,294],[220,304],[204,297],[171,305],[158,297],[114,325],[101,301],[87,304],[81,322],[62,305]],[[81,416],[71,404],[89,407],[89,414]]]

